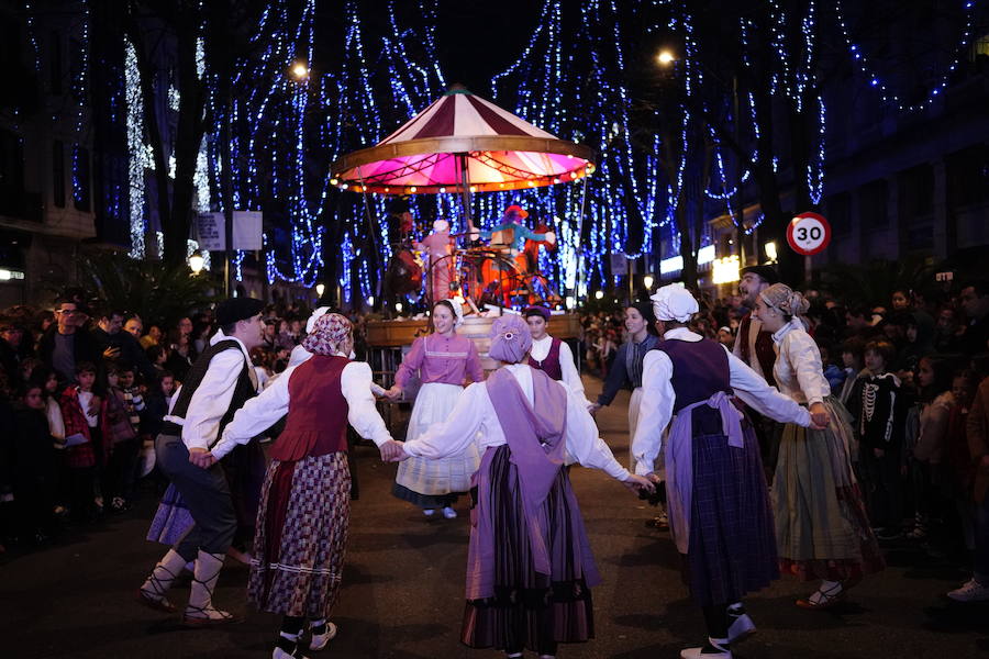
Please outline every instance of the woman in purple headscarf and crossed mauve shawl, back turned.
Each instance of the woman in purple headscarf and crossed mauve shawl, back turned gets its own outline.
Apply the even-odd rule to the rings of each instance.
[[[590,587],[600,582],[564,465],[574,458],[630,488],[652,490],[598,437],[586,404],[525,364],[529,326],[515,315],[491,327],[488,353],[502,367],[469,386],[449,417],[405,442],[400,459],[484,451],[474,478],[467,608],[460,640],[473,648],[556,655],[558,643],[593,636]]]

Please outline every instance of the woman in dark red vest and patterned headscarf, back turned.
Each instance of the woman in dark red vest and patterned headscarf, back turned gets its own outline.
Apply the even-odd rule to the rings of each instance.
[[[351,322],[322,315],[302,345],[312,357],[238,410],[211,450],[220,459],[288,414],[270,451],[247,584],[247,597],[260,611],[284,616],[275,659],[302,656],[307,619],[310,649],[324,648],[336,635],[326,618],[340,594],[351,515],[347,423],[378,446],[382,459],[397,454],[375,407],[370,367],[348,358]]]

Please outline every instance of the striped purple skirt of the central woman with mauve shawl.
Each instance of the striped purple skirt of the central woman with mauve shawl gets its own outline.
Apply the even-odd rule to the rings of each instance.
[[[519,474],[511,455],[508,445],[489,448],[477,474],[478,487],[471,491],[479,502],[471,511],[471,521],[485,510],[492,517],[488,527],[494,534],[494,593],[467,601],[462,640],[473,648],[524,648],[553,655],[557,643],[593,638],[588,582],[596,582],[597,574],[586,569],[590,559],[587,534],[565,468],[543,503],[553,574],[534,570]],[[471,544],[477,541],[477,529],[478,525],[473,525]]]

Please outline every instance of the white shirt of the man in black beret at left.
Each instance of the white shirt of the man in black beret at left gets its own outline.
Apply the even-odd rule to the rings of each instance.
[[[210,345],[223,339],[236,342],[240,350],[223,350],[213,356],[202,382],[192,392],[185,420],[171,414],[165,416],[165,421],[182,426],[182,442],[187,448],[209,449],[216,439],[216,433],[220,432],[220,420],[230,410],[230,402],[233,400],[233,392],[245,360],[248,372],[254,372],[247,348],[241,339],[216,332],[210,339]]]

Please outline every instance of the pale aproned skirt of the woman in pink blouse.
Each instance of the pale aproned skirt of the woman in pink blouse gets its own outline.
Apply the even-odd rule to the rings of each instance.
[[[459,384],[443,382],[423,384],[415,398],[415,406],[409,418],[409,432],[405,434],[405,438],[414,439],[434,423],[446,421],[457,404],[462,391],[464,388]],[[479,463],[480,454],[478,454],[477,446],[471,443],[463,453],[438,460],[418,457],[402,460],[399,462],[395,482],[412,492],[431,496],[466,492],[470,489],[470,477],[477,471]],[[399,499],[411,500],[409,496],[403,496],[400,489],[396,489],[393,493]]]

